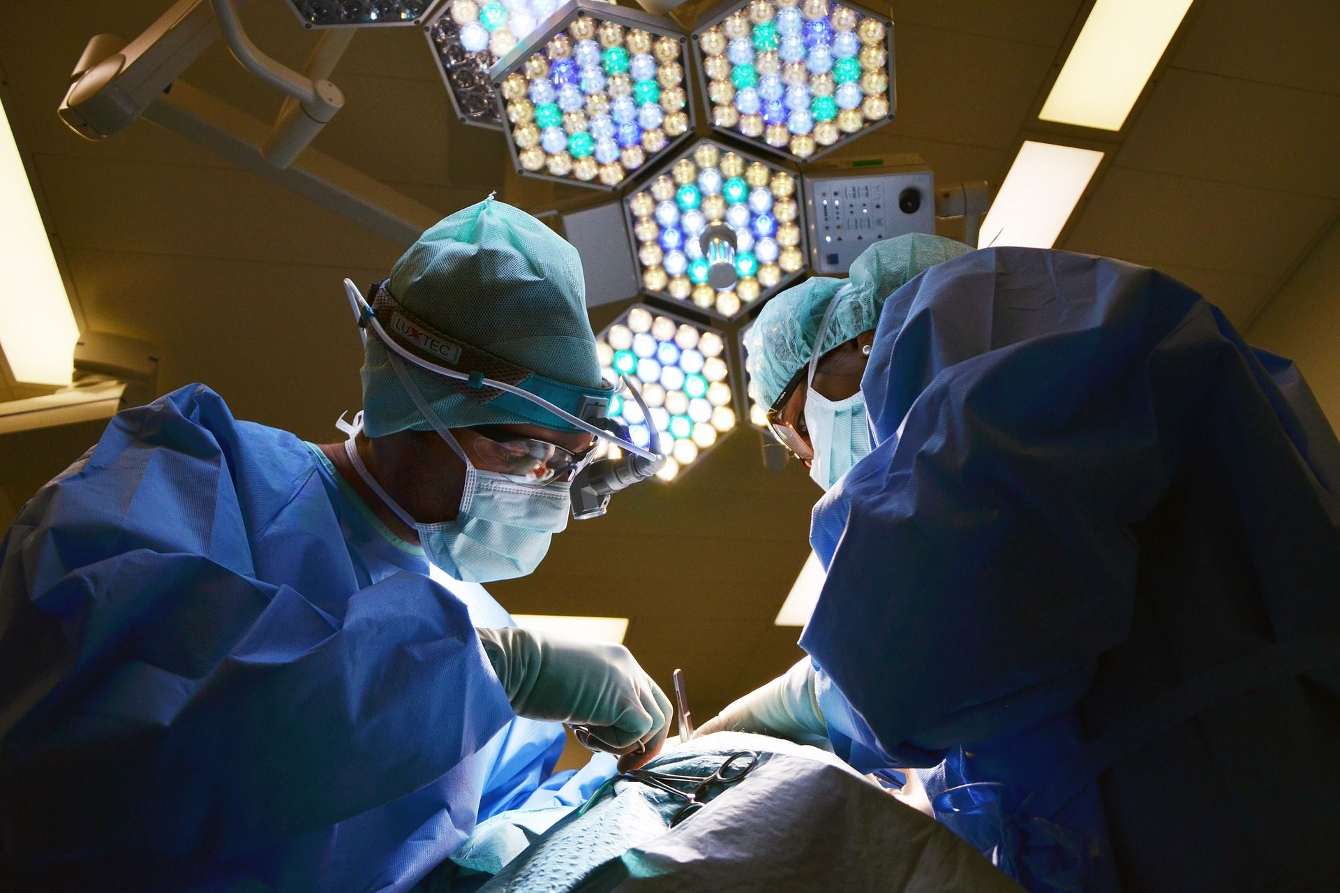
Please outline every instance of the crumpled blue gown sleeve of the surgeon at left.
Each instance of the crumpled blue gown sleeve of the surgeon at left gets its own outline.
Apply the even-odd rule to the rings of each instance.
[[[407,571],[351,585],[318,487],[192,386],[24,507],[0,543],[11,858],[261,847],[419,790],[512,719],[460,601]],[[260,578],[276,540],[326,591]]]

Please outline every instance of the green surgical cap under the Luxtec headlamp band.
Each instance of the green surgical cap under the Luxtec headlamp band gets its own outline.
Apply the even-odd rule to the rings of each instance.
[[[395,261],[387,288],[445,335],[547,378],[592,388],[600,386],[600,363],[583,283],[576,248],[524,211],[486,198],[419,236]],[[441,375],[405,366],[450,428],[528,421],[456,393]],[[362,377],[370,437],[431,430],[375,335],[367,339]]]

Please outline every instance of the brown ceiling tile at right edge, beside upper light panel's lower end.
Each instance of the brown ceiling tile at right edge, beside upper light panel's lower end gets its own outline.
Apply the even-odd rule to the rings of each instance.
[[[1170,68],[1116,164],[1340,197],[1340,95]]]

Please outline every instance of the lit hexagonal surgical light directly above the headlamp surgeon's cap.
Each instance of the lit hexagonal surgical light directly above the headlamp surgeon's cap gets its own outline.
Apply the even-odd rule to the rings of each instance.
[[[616,189],[693,130],[673,21],[570,0],[492,71],[523,176]]]

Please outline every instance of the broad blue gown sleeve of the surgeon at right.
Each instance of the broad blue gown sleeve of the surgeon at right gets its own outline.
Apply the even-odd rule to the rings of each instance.
[[[862,383],[875,449],[811,528],[828,574],[801,645],[836,737],[931,766],[1073,707],[1128,634],[1131,526],[1199,408],[1250,405],[1249,437],[1302,451],[1270,371],[1189,288],[1118,261],[980,251],[895,292]]]

